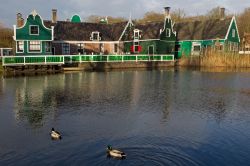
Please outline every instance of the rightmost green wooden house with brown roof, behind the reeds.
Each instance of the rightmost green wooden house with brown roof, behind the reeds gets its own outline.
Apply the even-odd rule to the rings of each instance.
[[[240,37],[235,17],[181,22],[177,32],[176,57],[205,55],[209,51],[238,52]]]

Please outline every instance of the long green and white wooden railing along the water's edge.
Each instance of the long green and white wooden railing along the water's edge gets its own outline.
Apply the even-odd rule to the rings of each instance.
[[[3,56],[3,66],[60,65],[84,62],[174,61],[174,55],[43,55]]]

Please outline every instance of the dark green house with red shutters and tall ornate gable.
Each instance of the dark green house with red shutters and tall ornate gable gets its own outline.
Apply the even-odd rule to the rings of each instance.
[[[170,8],[165,8],[163,22],[132,24],[123,35],[126,54],[174,54],[176,32],[173,29]]]

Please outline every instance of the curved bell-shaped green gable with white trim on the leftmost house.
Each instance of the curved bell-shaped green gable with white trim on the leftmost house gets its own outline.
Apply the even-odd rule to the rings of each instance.
[[[32,34],[32,27],[37,27],[38,33]],[[45,27],[41,16],[36,13],[30,14],[25,24],[20,28],[15,28],[15,40],[53,40],[53,27]]]

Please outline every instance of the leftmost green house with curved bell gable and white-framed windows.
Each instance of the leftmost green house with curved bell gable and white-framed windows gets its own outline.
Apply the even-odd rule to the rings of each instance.
[[[33,11],[23,25],[14,25],[16,55],[51,55],[53,31],[54,27],[46,27],[41,16]]]

